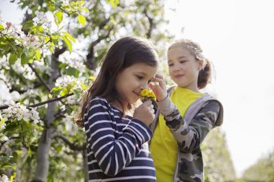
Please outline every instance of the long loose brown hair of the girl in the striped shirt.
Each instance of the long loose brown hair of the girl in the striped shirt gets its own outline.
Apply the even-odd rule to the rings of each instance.
[[[94,97],[103,97],[108,102],[117,101],[123,107],[122,97],[115,89],[116,77],[125,68],[135,63],[145,63],[153,67],[158,65],[158,56],[148,40],[139,37],[123,37],[110,47],[103,58],[101,70],[95,82],[82,96],[82,106],[75,118],[79,127],[84,127],[84,112],[87,106],[90,108],[90,100]]]

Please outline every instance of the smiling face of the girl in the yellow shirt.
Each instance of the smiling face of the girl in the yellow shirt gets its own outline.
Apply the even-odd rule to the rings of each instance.
[[[199,70],[203,62],[197,61],[182,45],[174,46],[168,52],[169,75],[179,87],[198,91]]]

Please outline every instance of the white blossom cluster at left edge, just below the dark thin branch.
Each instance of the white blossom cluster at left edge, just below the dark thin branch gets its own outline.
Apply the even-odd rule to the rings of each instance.
[[[2,117],[6,120],[33,120],[35,124],[38,123],[40,119],[39,113],[34,108],[28,109],[25,106],[22,106],[20,103],[10,104],[10,107],[3,110]]]

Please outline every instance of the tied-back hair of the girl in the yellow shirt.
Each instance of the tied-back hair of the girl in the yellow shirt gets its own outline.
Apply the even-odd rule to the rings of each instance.
[[[197,61],[203,60],[203,69],[199,71],[198,75],[198,89],[203,89],[208,85],[208,83],[211,82],[211,74],[212,74],[212,65],[208,59],[203,57],[203,50],[201,49],[201,46],[197,44],[196,42],[193,42],[192,40],[182,39],[177,40],[169,46],[169,49],[173,46],[184,46],[190,54],[192,54]],[[168,50],[169,50],[168,49]]]

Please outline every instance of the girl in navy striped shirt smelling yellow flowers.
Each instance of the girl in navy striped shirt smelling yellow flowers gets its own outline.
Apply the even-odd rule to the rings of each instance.
[[[77,120],[86,131],[89,181],[155,182],[147,144],[153,104],[140,104],[133,115],[129,109],[157,70],[158,57],[147,40],[124,37],[106,53]]]

